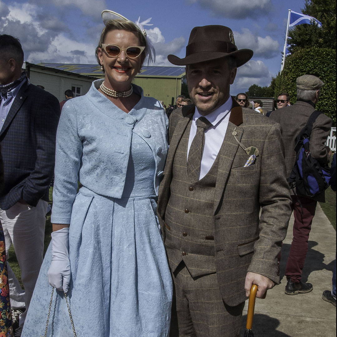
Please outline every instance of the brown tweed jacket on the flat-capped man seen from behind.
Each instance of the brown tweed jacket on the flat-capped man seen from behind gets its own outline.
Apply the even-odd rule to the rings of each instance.
[[[270,114],[270,118],[281,125],[282,138],[285,147],[285,165],[287,168],[287,177],[293,169],[296,160],[296,137],[305,127],[310,115],[315,108],[307,102],[297,101],[294,105],[277,109]],[[325,142],[330,134],[332,120],[324,114],[317,117],[313,123],[310,136],[310,154],[321,164],[327,164],[329,161],[328,152],[325,148]],[[325,202],[325,192],[322,192],[313,200]]]

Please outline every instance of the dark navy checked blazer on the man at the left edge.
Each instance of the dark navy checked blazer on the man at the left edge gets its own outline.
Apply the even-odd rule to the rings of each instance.
[[[0,131],[4,163],[1,209],[9,209],[21,198],[31,206],[41,198],[48,200],[59,117],[55,96],[33,84],[23,84]]]

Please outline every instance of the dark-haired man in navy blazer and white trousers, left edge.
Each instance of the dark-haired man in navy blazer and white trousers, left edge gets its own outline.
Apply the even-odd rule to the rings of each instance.
[[[0,191],[0,221],[6,253],[13,244],[25,292],[8,266],[13,308],[28,309],[43,259],[45,214],[53,177],[56,128],[60,105],[56,97],[29,84],[21,72],[20,41],[0,35],[0,145],[4,184]],[[26,312],[20,315],[21,335]]]

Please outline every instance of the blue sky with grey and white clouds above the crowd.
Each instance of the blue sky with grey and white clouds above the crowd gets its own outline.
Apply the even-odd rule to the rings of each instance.
[[[101,11],[110,9],[132,21],[152,18],[147,31],[156,48],[155,65],[168,66],[168,54],[185,56],[194,26],[228,26],[239,49],[254,51],[238,70],[231,87],[236,94],[254,83],[270,84],[280,70],[288,9],[303,7],[304,0],[0,0],[0,33],[21,40],[25,61],[96,63]]]

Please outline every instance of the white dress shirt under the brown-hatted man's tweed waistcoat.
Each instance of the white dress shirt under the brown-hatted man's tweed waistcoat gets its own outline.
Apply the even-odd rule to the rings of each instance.
[[[227,101],[219,106],[218,109],[212,111],[210,114],[205,116],[207,120],[212,124],[207,130],[205,130],[205,146],[203,151],[203,156],[201,158],[200,176],[202,179],[206,176],[208,171],[211,169],[216,156],[219,153],[225,133],[227,130],[227,125],[229,121],[229,112],[232,109],[232,98],[229,96]],[[188,139],[187,147],[187,158],[188,152],[191,147],[193,138],[196,134],[196,120],[202,117],[198,109],[195,107],[195,112],[192,118],[192,124]]]

